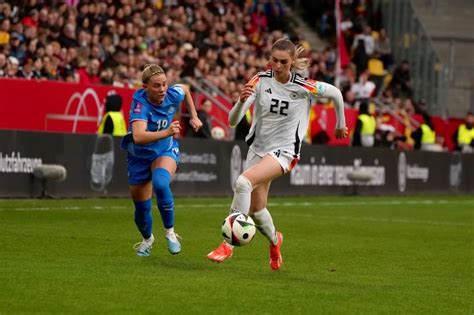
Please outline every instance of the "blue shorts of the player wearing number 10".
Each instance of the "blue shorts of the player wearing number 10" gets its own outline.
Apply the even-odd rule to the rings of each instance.
[[[127,169],[128,169],[128,183],[129,185],[140,185],[151,181],[152,170],[151,164],[157,158],[162,156],[169,156],[175,160],[176,165],[179,165],[179,144],[177,141],[173,141],[172,147],[160,154],[156,154],[151,158],[140,158],[132,155],[130,152],[127,153]]]

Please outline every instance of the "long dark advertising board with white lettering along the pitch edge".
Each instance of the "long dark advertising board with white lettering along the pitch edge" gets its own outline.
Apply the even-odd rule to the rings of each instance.
[[[120,139],[43,132],[0,131],[0,197],[35,197],[36,165],[61,164],[67,179],[48,183],[57,197],[127,196],[126,154]],[[295,169],[272,184],[273,195],[386,195],[474,193],[474,154],[397,152],[385,149],[304,146]],[[181,140],[173,181],[178,196],[231,196],[241,173],[245,143]],[[370,180],[353,183],[354,170]]]

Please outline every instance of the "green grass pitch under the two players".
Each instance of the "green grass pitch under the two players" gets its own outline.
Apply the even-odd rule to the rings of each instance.
[[[154,209],[137,257],[130,200],[0,200],[0,314],[474,312],[473,196],[272,198],[277,272],[261,235],[205,259],[229,204],[178,198],[177,256]]]

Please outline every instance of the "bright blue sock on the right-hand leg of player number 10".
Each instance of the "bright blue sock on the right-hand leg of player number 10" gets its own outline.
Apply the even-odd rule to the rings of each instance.
[[[153,170],[153,190],[165,229],[174,226],[174,199],[170,188],[171,174],[164,168]]]

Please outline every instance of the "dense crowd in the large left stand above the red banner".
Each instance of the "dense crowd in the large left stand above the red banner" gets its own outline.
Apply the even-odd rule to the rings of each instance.
[[[0,77],[134,87],[157,63],[232,96],[265,68],[283,14],[280,1],[2,2]]]

